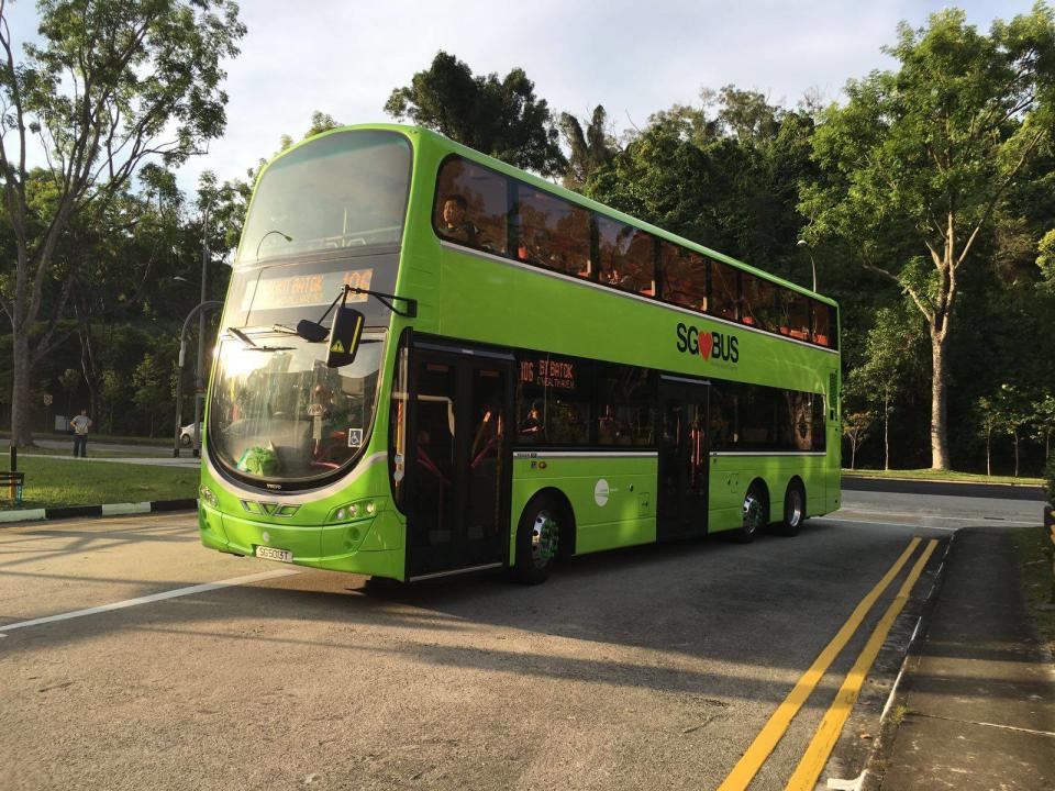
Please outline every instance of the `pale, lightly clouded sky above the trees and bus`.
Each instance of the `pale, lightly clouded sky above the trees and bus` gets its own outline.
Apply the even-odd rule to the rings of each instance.
[[[793,107],[807,91],[837,100],[851,77],[893,62],[880,52],[897,25],[922,26],[949,3],[931,0],[242,0],[248,32],[226,64],[224,136],[185,165],[244,178],[282,134],[300,138],[311,113],[341,123],[391,121],[382,107],[444,49],[474,74],[521,67],[535,96],[556,112],[587,118],[603,104],[621,131],[648,115],[695,103],[702,87],[734,85]],[[1032,0],[960,0],[968,21],[1029,12]],[[33,4],[9,7],[14,38],[29,32]]]

